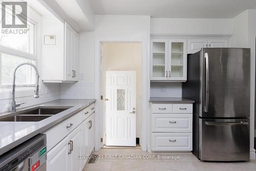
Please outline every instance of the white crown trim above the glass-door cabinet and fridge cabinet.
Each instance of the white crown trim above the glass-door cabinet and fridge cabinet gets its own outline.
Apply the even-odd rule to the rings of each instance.
[[[159,34],[159,33],[151,33],[150,37],[152,39],[155,38],[225,38],[230,39],[232,34]]]

